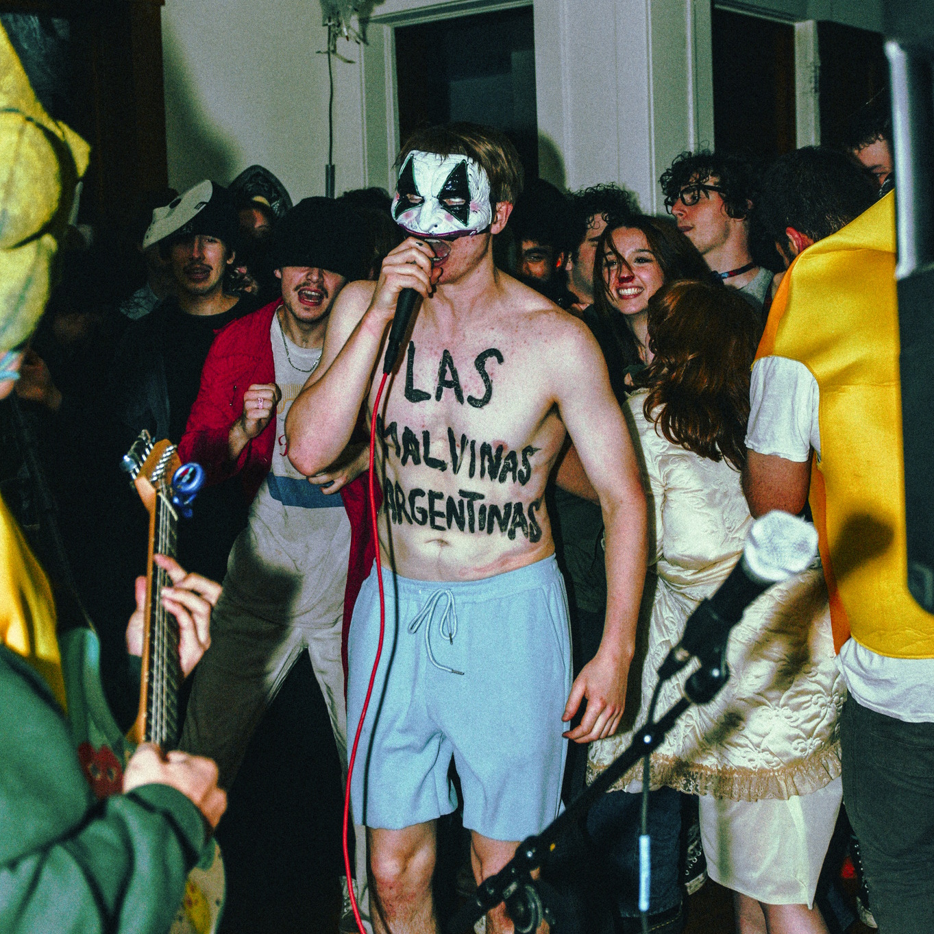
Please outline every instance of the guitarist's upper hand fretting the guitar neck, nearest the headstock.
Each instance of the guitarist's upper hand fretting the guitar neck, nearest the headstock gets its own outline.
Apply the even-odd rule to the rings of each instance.
[[[169,575],[172,587],[163,587],[163,606],[178,623],[178,655],[184,677],[201,660],[211,644],[211,608],[217,606],[220,585],[201,574],[187,573],[172,558],[153,555],[153,561]],[[126,647],[130,655],[143,654],[143,621],[146,614],[146,578],[136,578],[136,609],[126,628]]]

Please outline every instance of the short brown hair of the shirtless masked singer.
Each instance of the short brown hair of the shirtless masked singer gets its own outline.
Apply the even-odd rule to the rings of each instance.
[[[448,123],[416,130],[399,150],[396,169],[413,151],[436,152],[439,156],[466,156],[473,159],[489,178],[489,200],[515,205],[522,193],[522,162],[509,137],[478,123]]]

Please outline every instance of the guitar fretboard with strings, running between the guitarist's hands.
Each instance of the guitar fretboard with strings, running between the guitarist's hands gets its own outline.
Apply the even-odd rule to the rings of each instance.
[[[177,522],[174,506],[160,490],[156,496],[154,552],[176,557]],[[159,743],[164,750],[175,749],[178,743],[178,688],[182,682],[178,623],[161,600],[163,587],[171,586],[169,575],[153,562],[145,738],[149,743]]]

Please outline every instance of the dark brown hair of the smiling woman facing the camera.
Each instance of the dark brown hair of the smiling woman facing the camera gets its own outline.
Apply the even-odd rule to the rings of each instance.
[[[616,338],[623,364],[629,366],[639,362],[639,349],[628,322],[620,320],[623,316],[610,302],[610,293],[603,279],[603,256],[607,250],[616,253],[620,262],[625,262],[613,244],[613,234],[621,228],[631,228],[644,233],[648,248],[658,261],[665,282],[675,279],[699,279],[701,282],[715,282],[716,286],[720,286],[720,279],[711,276],[710,269],[698,249],[671,220],[653,218],[645,214],[609,218],[593,263],[593,306],[597,317],[601,318],[603,325]]]

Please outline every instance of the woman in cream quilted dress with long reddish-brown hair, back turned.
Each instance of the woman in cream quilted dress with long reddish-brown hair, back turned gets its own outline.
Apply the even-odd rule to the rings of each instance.
[[[636,724],[658,665],[740,558],[752,523],[739,471],[758,332],[752,306],[729,289],[675,282],[648,302],[644,389],[628,406],[654,502],[649,555],[657,577]],[[708,872],[734,891],[741,934],[826,934],[812,906],[842,800],[843,689],[820,570],[755,601],[730,635],[728,661],[728,685],[690,708],[652,755],[652,787],[700,796]],[[685,679],[662,687],[659,712],[680,697]],[[591,744],[590,774],[631,735]],[[615,787],[639,790],[640,777],[641,766]]]

